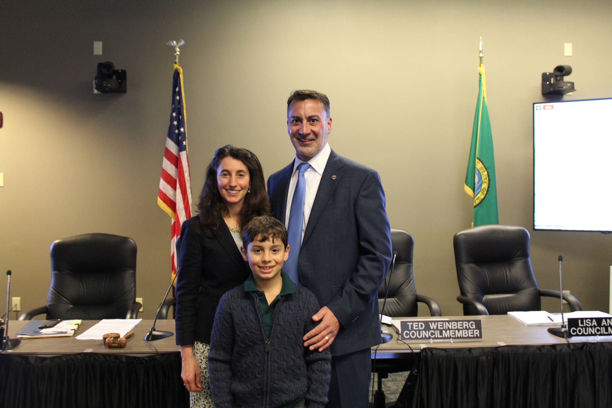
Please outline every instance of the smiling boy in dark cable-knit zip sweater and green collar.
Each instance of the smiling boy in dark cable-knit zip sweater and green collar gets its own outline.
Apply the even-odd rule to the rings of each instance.
[[[242,230],[241,251],[253,273],[223,295],[212,327],[215,407],[324,407],[330,352],[303,346],[319,305],[281,270],[289,254],[285,226],[253,218]]]

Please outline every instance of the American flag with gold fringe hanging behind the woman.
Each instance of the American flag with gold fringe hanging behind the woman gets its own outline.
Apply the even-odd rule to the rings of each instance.
[[[162,177],[159,180],[157,204],[172,217],[170,259],[172,276],[176,273],[176,238],[181,234],[181,224],[191,217],[191,180],[187,158],[187,126],[185,125],[185,95],[183,94],[183,70],[174,64],[172,85],[172,112],[163,152]]]

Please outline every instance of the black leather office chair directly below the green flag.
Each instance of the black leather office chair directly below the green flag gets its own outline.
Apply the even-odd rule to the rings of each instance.
[[[522,227],[484,225],[457,232],[453,239],[457,280],[465,316],[541,310],[540,296],[562,297],[572,311],[578,299],[540,289],[529,259],[529,232]]]

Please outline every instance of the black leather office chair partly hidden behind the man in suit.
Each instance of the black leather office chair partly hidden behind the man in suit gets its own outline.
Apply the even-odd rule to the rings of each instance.
[[[378,307],[381,313],[389,317],[417,316],[419,312],[417,302],[422,302],[428,306],[431,316],[442,316],[438,302],[430,297],[417,294],[412,276],[412,250],[414,248],[412,235],[402,229],[392,228],[391,245],[393,251],[397,251],[397,258],[395,258],[393,275],[390,276],[390,270],[387,272],[385,281],[378,291]],[[389,294],[383,310],[387,285]],[[405,357],[372,360],[372,370],[378,374],[378,389],[374,395],[374,407],[385,406],[383,379],[389,377],[389,373],[401,373],[412,369],[414,360]]]

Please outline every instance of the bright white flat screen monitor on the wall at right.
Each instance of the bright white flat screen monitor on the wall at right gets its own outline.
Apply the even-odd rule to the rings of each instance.
[[[612,231],[612,98],[533,109],[534,229]]]

